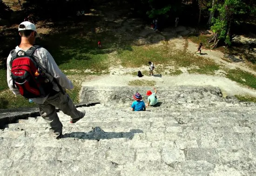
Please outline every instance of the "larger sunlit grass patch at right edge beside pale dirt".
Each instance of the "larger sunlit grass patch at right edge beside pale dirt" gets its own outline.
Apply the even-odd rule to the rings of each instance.
[[[230,69],[227,71],[227,77],[235,82],[239,82],[250,88],[256,89],[256,77],[241,69]]]

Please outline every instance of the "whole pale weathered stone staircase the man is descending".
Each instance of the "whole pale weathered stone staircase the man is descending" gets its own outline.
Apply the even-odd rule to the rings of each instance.
[[[84,87],[95,103],[75,124],[58,113],[64,138],[41,117],[0,131],[3,176],[254,176],[256,104],[222,98],[219,88],[159,88],[159,105],[130,111],[148,88]],[[146,97],[143,97],[146,100]]]

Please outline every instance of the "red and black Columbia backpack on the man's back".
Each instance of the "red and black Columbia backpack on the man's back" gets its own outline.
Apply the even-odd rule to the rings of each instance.
[[[15,49],[10,52],[13,87],[18,88],[20,94],[25,98],[46,97],[53,88],[52,82],[49,82],[33,56],[34,51],[39,47],[32,46],[26,52],[19,50],[16,53]],[[19,56],[19,52],[23,52],[24,55]]]

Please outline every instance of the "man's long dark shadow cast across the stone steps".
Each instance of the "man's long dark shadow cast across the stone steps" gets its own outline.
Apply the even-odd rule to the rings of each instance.
[[[97,140],[111,138],[129,138],[132,139],[135,133],[143,133],[140,129],[132,129],[130,132],[104,132],[101,127],[96,126],[90,132],[71,132],[63,135],[63,138],[80,138]]]

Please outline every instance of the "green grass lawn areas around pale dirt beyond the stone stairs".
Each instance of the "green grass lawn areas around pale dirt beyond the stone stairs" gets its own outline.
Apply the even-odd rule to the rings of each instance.
[[[66,75],[72,75],[73,79],[76,75],[85,77],[87,75],[101,75],[109,73],[108,68],[113,65],[121,64],[123,67],[135,68],[147,65],[148,61],[155,63],[155,72],[158,74],[179,75],[182,71],[181,67],[188,68],[191,74],[210,74],[214,75],[219,69],[213,60],[195,56],[184,50],[174,50],[168,42],[160,42],[159,44],[136,45],[133,39],[120,37],[115,33],[99,32],[88,34],[89,27],[87,25],[81,28],[56,28],[49,35],[42,35],[37,44],[44,46],[52,54],[54,60],[60,69]],[[97,41],[101,39],[102,49],[97,47]],[[206,42],[205,36],[189,37],[195,43]],[[160,66],[162,65],[162,66]],[[164,66],[173,66],[165,73]],[[189,68],[194,69],[189,69]],[[89,69],[91,72],[85,72]],[[148,70],[141,70],[143,75],[148,75]],[[137,75],[137,72],[130,73]],[[241,70],[229,70],[227,77],[231,80],[256,88],[256,79],[254,75],[243,72]],[[34,103],[29,103],[23,97],[15,98],[13,93],[8,90],[6,81],[6,69],[0,69],[0,108],[14,107],[31,107]],[[74,82],[74,80],[73,80]],[[131,86],[153,86],[155,82],[136,80],[129,82]],[[74,102],[78,102],[79,90],[81,83],[74,83],[75,88],[67,91]]]

